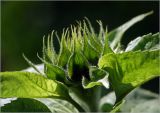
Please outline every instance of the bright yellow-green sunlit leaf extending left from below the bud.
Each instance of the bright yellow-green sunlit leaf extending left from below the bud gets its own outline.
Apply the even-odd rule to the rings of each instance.
[[[1,98],[67,98],[68,90],[60,82],[29,72],[1,72]]]

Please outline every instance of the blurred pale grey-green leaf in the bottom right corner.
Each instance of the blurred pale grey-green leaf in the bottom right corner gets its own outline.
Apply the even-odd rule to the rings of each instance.
[[[144,108],[146,106],[145,105],[143,106],[143,103],[146,103],[146,102],[152,101],[152,100],[156,100],[156,99],[158,100],[158,98],[159,98],[158,94],[152,93],[152,92],[145,90],[145,89],[136,88],[125,97],[126,101],[125,101],[124,105],[121,107],[121,111],[122,112],[131,112],[133,110],[136,110],[137,106]],[[156,107],[155,106],[156,106],[155,104],[150,104],[146,108],[157,109],[156,107],[158,107],[158,106],[156,106]],[[149,112],[149,111],[148,111],[148,109],[144,109],[144,111],[141,111],[141,112]],[[150,111],[150,112],[154,112],[154,111]]]

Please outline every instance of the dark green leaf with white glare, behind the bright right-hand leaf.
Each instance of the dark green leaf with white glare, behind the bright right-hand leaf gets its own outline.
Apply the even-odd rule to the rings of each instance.
[[[137,50],[153,50],[160,49],[160,34],[156,33],[152,35],[151,33],[138,37],[131,41],[125,51],[137,51]]]

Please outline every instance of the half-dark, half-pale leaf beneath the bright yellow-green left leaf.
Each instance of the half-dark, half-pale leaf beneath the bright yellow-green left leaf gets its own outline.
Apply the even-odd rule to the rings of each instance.
[[[7,101],[7,103],[5,101]],[[1,106],[2,112],[78,113],[78,110],[72,104],[70,104],[68,101],[61,100],[61,99],[8,98],[8,99],[1,99],[1,102],[6,103],[5,105]]]

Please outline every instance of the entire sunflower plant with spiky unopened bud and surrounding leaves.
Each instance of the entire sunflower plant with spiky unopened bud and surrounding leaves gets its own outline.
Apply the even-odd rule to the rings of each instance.
[[[0,73],[0,97],[11,98],[11,102],[1,105],[2,111],[75,113],[145,110],[131,102],[129,104],[134,108],[127,109],[125,99],[127,103],[130,98],[133,100],[127,96],[133,94],[130,93],[132,90],[160,76],[159,33],[140,36],[126,48],[122,48],[121,39],[132,25],[152,13],[139,15],[111,32],[107,32],[98,21],[100,31],[95,33],[87,18],[77,26],[63,30],[61,38],[53,31],[47,42],[45,37],[43,39],[43,57],[38,56],[43,69],[39,70],[23,55],[35,71]],[[59,50],[53,44],[54,37],[59,42]],[[17,99],[12,100],[15,97]],[[157,102],[157,94],[149,93],[147,97],[153,97],[153,100],[145,101],[145,107]],[[160,110],[156,106],[148,111]]]

